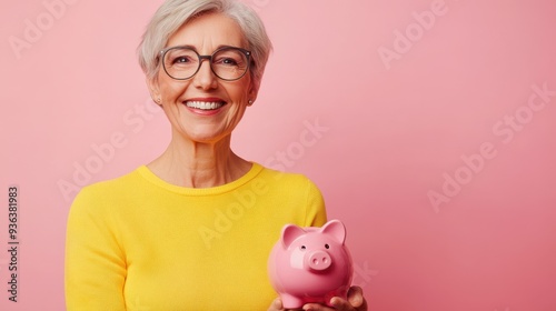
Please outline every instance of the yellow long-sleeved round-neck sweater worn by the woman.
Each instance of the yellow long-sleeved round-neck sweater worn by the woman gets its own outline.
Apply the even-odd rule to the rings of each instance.
[[[320,227],[300,174],[254,163],[231,183],[169,184],[142,165],[86,187],[68,219],[69,311],[267,310],[267,259],[286,223]]]

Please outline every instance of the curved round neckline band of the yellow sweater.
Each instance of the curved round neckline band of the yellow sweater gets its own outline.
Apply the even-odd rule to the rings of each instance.
[[[187,195],[208,195],[208,194],[219,194],[219,193],[225,193],[225,192],[236,190],[239,187],[241,187],[242,184],[252,180],[255,177],[257,177],[259,174],[260,171],[262,171],[264,168],[259,163],[256,163],[256,162],[251,162],[251,163],[252,163],[252,165],[249,169],[249,171],[247,171],[247,173],[245,173],[239,179],[237,179],[232,182],[226,183],[226,184],[210,187],[210,188],[189,188],[189,187],[181,187],[181,185],[176,185],[176,184],[169,183],[169,182],[162,180],[161,178],[159,178],[158,175],[156,175],[145,164],[140,165],[137,169],[137,172],[143,179],[146,179],[148,182],[153,183],[157,187],[160,187],[162,189],[166,189],[166,190],[169,190],[172,192],[187,194]]]

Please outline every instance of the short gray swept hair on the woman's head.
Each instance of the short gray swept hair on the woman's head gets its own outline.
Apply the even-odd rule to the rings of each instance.
[[[157,10],[137,48],[139,64],[148,79],[156,79],[160,70],[159,52],[178,29],[205,13],[222,13],[235,20],[251,51],[252,81],[258,89],[272,43],[267,36],[262,21],[247,4],[236,0],[167,0]]]

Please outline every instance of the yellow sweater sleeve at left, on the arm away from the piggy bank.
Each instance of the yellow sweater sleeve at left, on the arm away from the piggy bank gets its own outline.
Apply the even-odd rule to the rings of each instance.
[[[126,260],[108,203],[85,188],[71,205],[66,240],[68,311],[126,310]]]

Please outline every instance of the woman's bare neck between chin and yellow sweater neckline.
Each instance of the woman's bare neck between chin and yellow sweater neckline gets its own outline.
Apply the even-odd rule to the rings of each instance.
[[[231,137],[199,143],[172,137],[168,149],[147,167],[162,180],[188,188],[210,188],[241,178],[251,163],[230,149]]]

